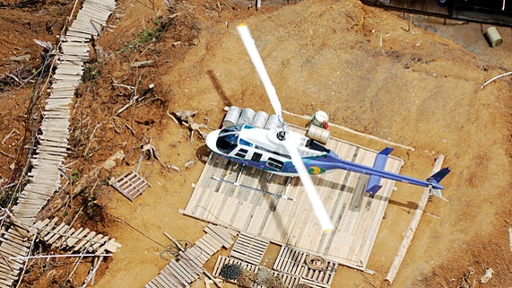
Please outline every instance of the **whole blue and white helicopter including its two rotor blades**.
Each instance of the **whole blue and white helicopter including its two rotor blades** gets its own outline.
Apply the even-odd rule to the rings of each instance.
[[[426,180],[415,179],[385,170],[388,156],[393,148],[386,147],[377,153],[373,166],[367,166],[345,161],[316,140],[289,130],[288,124],[282,118],[281,102],[266,72],[263,60],[259,56],[255,40],[248,30],[247,24],[239,24],[237,31],[264,84],[265,92],[280,125],[277,128],[265,129],[249,124],[236,124],[214,130],[206,136],[206,145],[213,153],[244,166],[255,167],[272,174],[299,176],[324,231],[332,230],[333,223],[325,211],[325,206],[317,194],[310,175],[319,175],[330,170],[340,169],[369,175],[365,191],[369,193],[370,197],[374,197],[382,188],[380,182],[383,178],[430,188],[432,195],[442,197],[440,190],[444,187],[439,182],[450,172],[448,167],[438,170]]]

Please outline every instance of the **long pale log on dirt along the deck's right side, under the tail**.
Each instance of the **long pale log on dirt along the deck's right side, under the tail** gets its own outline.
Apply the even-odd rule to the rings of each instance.
[[[432,169],[432,174],[437,172],[441,169],[441,166],[443,165],[443,161],[445,160],[444,155],[438,155],[438,158],[436,159],[434,163],[434,168]],[[400,245],[400,248],[398,249],[398,252],[396,252],[395,260],[393,261],[393,264],[389,268],[389,272],[387,272],[386,278],[384,279],[387,284],[392,284],[395,280],[395,276],[398,273],[398,269],[400,269],[400,266],[402,265],[402,261],[404,261],[405,254],[407,253],[407,250],[409,249],[409,246],[412,242],[412,237],[414,236],[414,233],[416,232],[416,229],[418,228],[418,225],[420,224],[421,215],[423,214],[423,211],[425,210],[425,205],[427,205],[427,201],[430,197],[430,188],[425,188],[423,190],[423,195],[421,195],[420,202],[418,203],[418,208],[416,208],[416,211],[414,212],[414,215],[412,216],[412,221],[409,224],[409,228],[407,228],[407,231],[405,232],[404,240],[402,240],[402,244]]]

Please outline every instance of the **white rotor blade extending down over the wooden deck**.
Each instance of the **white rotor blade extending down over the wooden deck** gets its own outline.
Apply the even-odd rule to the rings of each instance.
[[[309,176],[306,165],[304,165],[304,162],[300,157],[299,150],[297,150],[297,147],[289,140],[284,140],[284,146],[288,150],[288,153],[290,153],[291,162],[293,162],[295,169],[299,173],[302,186],[304,186],[304,189],[306,190],[306,195],[308,195],[309,202],[311,202],[311,205],[313,206],[313,211],[317,216],[320,226],[322,226],[322,230],[325,232],[333,230],[333,223],[329,218],[329,214],[327,214],[327,211],[325,210],[322,200],[320,200],[320,196],[318,196],[317,188],[315,188],[315,184],[313,184],[313,180],[311,179],[311,176]]]

